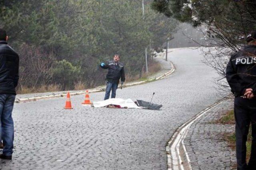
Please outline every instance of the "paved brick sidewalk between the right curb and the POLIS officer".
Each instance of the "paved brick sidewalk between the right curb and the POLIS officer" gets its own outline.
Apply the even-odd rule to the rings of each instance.
[[[234,107],[233,100],[214,106],[191,127],[184,144],[194,170],[231,170],[236,164],[236,152],[228,147],[224,133],[233,133],[235,125],[215,124]]]

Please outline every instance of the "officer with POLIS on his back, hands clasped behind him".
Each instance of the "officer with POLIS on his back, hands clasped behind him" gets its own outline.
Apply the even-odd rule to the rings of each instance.
[[[238,170],[256,170],[256,31],[247,37],[248,45],[231,56],[226,79],[235,96],[236,159]],[[246,164],[246,141],[252,125],[252,150]]]

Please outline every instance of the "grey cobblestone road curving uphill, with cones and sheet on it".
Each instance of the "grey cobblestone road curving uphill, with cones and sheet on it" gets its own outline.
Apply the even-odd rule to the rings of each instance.
[[[118,89],[118,98],[150,100],[162,110],[88,108],[83,95],[15,104],[14,154],[0,169],[166,170],[166,142],[176,128],[220,99],[214,70],[199,50],[169,53],[176,66],[168,78]],[[104,92],[90,94],[99,101]]]

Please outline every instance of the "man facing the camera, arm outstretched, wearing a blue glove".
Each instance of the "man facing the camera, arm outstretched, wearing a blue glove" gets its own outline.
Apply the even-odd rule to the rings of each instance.
[[[121,83],[125,81],[124,76],[124,64],[119,62],[120,56],[118,54],[114,55],[113,61],[108,61],[106,64],[102,62],[100,67],[103,69],[108,69],[108,74],[106,75],[106,94],[104,100],[107,100],[110,96],[110,91],[112,90],[111,98],[116,97],[116,89],[119,84],[119,79],[121,78]]]

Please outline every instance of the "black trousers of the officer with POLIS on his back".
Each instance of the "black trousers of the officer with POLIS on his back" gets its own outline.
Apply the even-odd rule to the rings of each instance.
[[[236,159],[238,170],[256,170],[256,98],[236,97],[234,102],[236,120]],[[250,123],[252,124],[252,150],[246,164],[246,141]]]

